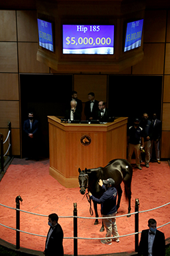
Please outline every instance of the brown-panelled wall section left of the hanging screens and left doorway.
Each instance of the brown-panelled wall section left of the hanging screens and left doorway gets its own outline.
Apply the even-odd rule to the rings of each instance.
[[[19,73],[49,73],[36,60],[36,11],[0,10],[0,132],[4,139],[12,123],[12,155],[20,155]],[[29,90],[29,88],[28,88]],[[4,145],[4,153],[8,144]]]

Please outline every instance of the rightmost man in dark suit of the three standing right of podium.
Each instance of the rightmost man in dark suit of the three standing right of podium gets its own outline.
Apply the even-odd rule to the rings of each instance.
[[[159,145],[160,145],[160,136],[162,131],[162,123],[160,120],[157,119],[156,114],[153,114],[152,117],[152,140],[151,140],[151,148],[150,148],[150,157],[152,157],[152,149],[154,146],[155,154],[156,154],[156,160],[158,164],[160,164],[160,151],[159,151]]]

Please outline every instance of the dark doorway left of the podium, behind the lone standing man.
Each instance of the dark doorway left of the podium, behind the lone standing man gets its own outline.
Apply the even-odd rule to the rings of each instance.
[[[72,94],[72,75],[20,75],[21,126],[33,112],[38,120],[38,157],[49,157],[47,116],[64,116]],[[25,157],[22,132],[22,157]]]

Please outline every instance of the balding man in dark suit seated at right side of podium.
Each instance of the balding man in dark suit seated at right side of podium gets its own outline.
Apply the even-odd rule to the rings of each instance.
[[[98,103],[98,111],[96,112],[96,120],[100,120],[101,123],[107,123],[111,117],[111,112],[106,108],[106,103],[100,101]]]

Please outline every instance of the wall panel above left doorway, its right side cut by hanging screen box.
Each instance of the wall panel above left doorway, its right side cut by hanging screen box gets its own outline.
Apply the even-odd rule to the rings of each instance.
[[[49,73],[49,67],[36,60],[37,42],[18,42],[20,73]]]

